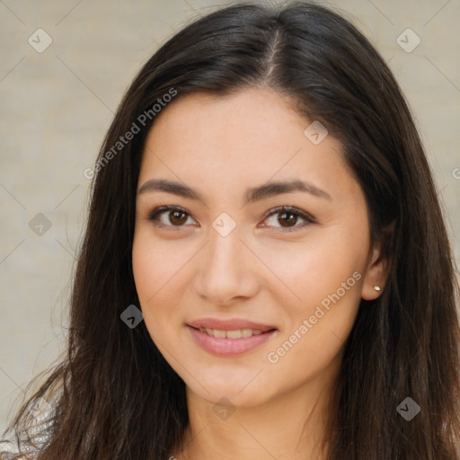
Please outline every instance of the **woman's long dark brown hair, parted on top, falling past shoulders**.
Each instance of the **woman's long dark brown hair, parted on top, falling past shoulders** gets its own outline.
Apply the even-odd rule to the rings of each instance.
[[[24,449],[35,438],[40,460],[163,460],[181,445],[185,385],[145,324],[120,320],[139,305],[131,251],[140,159],[164,94],[261,84],[341,141],[367,199],[372,243],[382,240],[391,262],[382,295],[361,301],[345,344],[328,460],[457,459],[459,287],[419,134],[376,49],[338,13],[303,3],[210,13],[168,40],[128,88],[98,158],[66,357],[10,427]],[[106,161],[135,122],[140,132]],[[37,439],[30,409],[41,397],[53,411]],[[420,406],[410,421],[397,411],[408,397]]]

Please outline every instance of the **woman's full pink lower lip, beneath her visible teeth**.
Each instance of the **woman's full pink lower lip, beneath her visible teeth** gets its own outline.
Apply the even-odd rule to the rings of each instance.
[[[276,331],[263,332],[259,335],[251,337],[242,337],[241,339],[227,339],[213,337],[206,332],[200,332],[187,326],[193,339],[199,344],[202,349],[213,355],[218,356],[236,356],[242,355],[252,349],[259,347],[262,343],[269,341]]]

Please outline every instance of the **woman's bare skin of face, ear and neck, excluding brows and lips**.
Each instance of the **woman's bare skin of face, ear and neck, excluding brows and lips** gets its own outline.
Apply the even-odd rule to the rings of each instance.
[[[311,121],[266,87],[228,97],[192,93],[170,103],[146,139],[137,190],[167,179],[202,196],[137,195],[140,306],[153,341],[187,385],[190,425],[183,451],[172,453],[179,459],[323,458],[314,449],[344,341],[360,299],[379,296],[374,286],[384,287],[386,269],[379,248],[369,245],[365,198],[341,143],[328,135],[315,146],[304,135]],[[295,191],[246,202],[249,188],[296,179],[331,199]],[[163,205],[188,214],[179,223],[169,211],[149,220]],[[267,216],[280,206],[299,208],[315,223],[291,216],[283,226],[282,211]],[[226,236],[212,226],[223,212],[236,224]],[[356,284],[271,363],[268,354],[354,272],[361,275]],[[186,326],[204,317],[244,318],[277,332],[242,356],[217,357]],[[233,411],[225,420],[213,410],[222,398]]]

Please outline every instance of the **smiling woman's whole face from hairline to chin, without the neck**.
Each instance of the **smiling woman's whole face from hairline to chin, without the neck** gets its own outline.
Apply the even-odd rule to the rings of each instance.
[[[341,144],[270,89],[193,93],[157,117],[133,247],[156,346],[211,403],[323,385],[381,280]]]

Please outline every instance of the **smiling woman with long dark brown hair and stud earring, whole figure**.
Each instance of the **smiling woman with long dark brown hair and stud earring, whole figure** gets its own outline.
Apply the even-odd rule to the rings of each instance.
[[[13,420],[22,458],[459,458],[437,192],[349,22],[244,4],[191,23],[87,173],[68,354]]]

